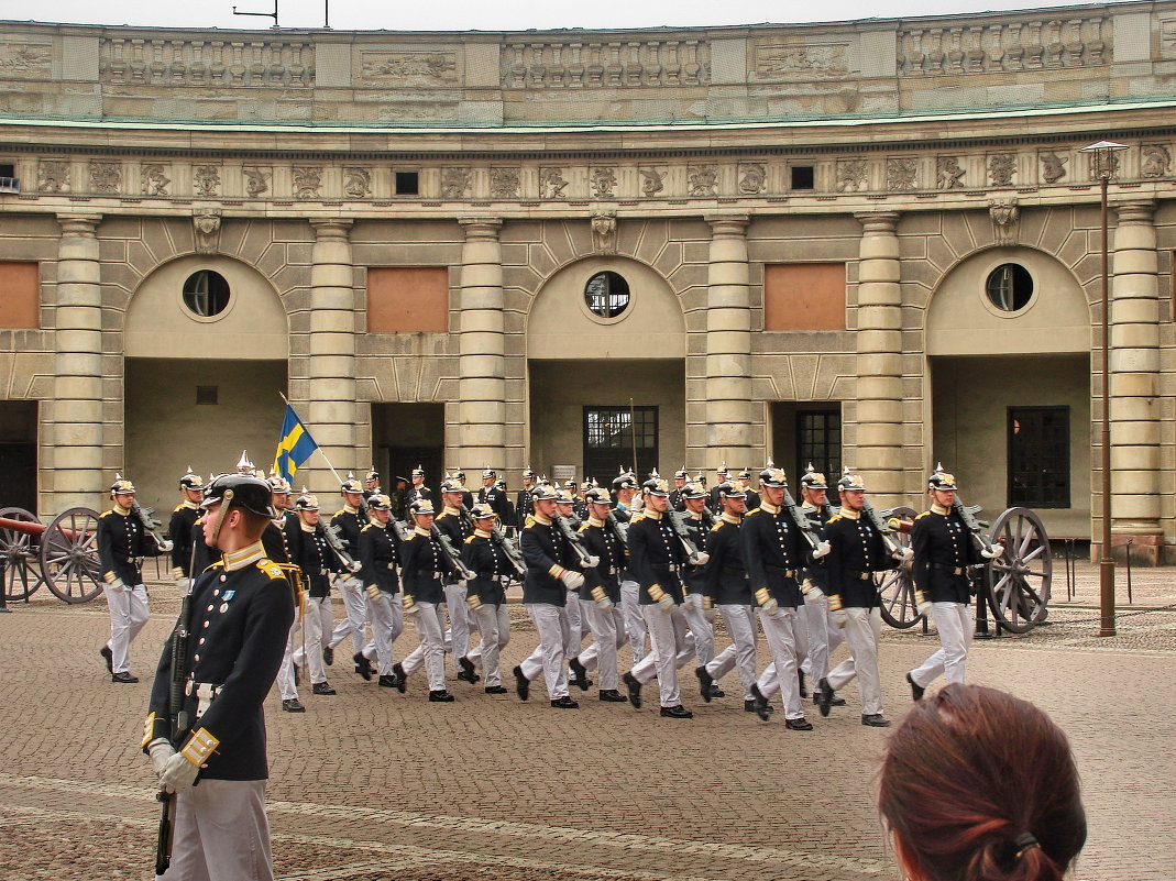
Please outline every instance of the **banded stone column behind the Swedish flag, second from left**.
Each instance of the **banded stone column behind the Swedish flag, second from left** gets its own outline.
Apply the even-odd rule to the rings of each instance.
[[[356,468],[355,422],[355,289],[352,246],[347,239],[352,221],[312,220],[315,239],[310,252],[310,339],[308,403],[302,416],[310,434],[340,478]],[[301,412],[300,412],[301,415]],[[269,453],[267,452],[267,455]],[[254,459],[256,461],[256,458]],[[307,463],[315,473],[325,503],[334,476],[315,454]],[[295,487],[298,489],[298,487]]]

